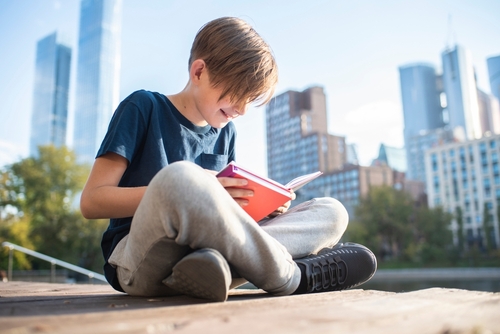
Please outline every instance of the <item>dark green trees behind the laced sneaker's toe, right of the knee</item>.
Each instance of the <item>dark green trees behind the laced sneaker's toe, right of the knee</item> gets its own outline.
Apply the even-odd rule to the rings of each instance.
[[[380,262],[404,261],[426,266],[449,259],[451,219],[441,208],[416,206],[403,191],[373,187],[360,200],[347,237],[372,249]]]

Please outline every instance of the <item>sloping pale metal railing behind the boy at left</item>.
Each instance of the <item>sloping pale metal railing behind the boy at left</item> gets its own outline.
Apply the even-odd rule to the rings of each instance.
[[[99,281],[107,282],[104,275],[101,275],[101,274],[96,273],[94,271],[87,270],[87,269],[82,268],[82,267],[75,266],[75,265],[68,263],[68,262],[58,260],[58,259],[53,258],[51,256],[47,256],[47,255],[44,255],[42,253],[35,252],[31,249],[24,248],[24,247],[21,247],[18,245],[14,245],[14,244],[7,242],[7,241],[2,242],[2,246],[9,248],[9,267],[7,269],[7,277],[8,277],[9,281],[12,280],[12,264],[14,262],[14,250],[17,250],[19,252],[34,256],[34,257],[39,258],[41,260],[50,262],[50,281],[51,282],[55,282],[56,265],[88,276],[89,283],[92,282],[92,279],[97,279]]]

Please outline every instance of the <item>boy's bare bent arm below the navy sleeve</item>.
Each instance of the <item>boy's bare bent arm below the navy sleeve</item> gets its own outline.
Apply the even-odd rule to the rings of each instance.
[[[87,219],[132,217],[146,187],[118,187],[128,161],[115,153],[97,158],[83,188],[80,209]]]

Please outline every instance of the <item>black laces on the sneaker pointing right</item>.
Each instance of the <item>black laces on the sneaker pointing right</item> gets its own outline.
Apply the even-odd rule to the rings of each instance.
[[[341,263],[344,264],[343,268],[340,266]],[[311,265],[311,269],[312,291],[330,290],[337,285],[343,285],[347,279],[347,264],[340,256],[336,256],[333,262],[329,259],[323,264],[314,262]]]

